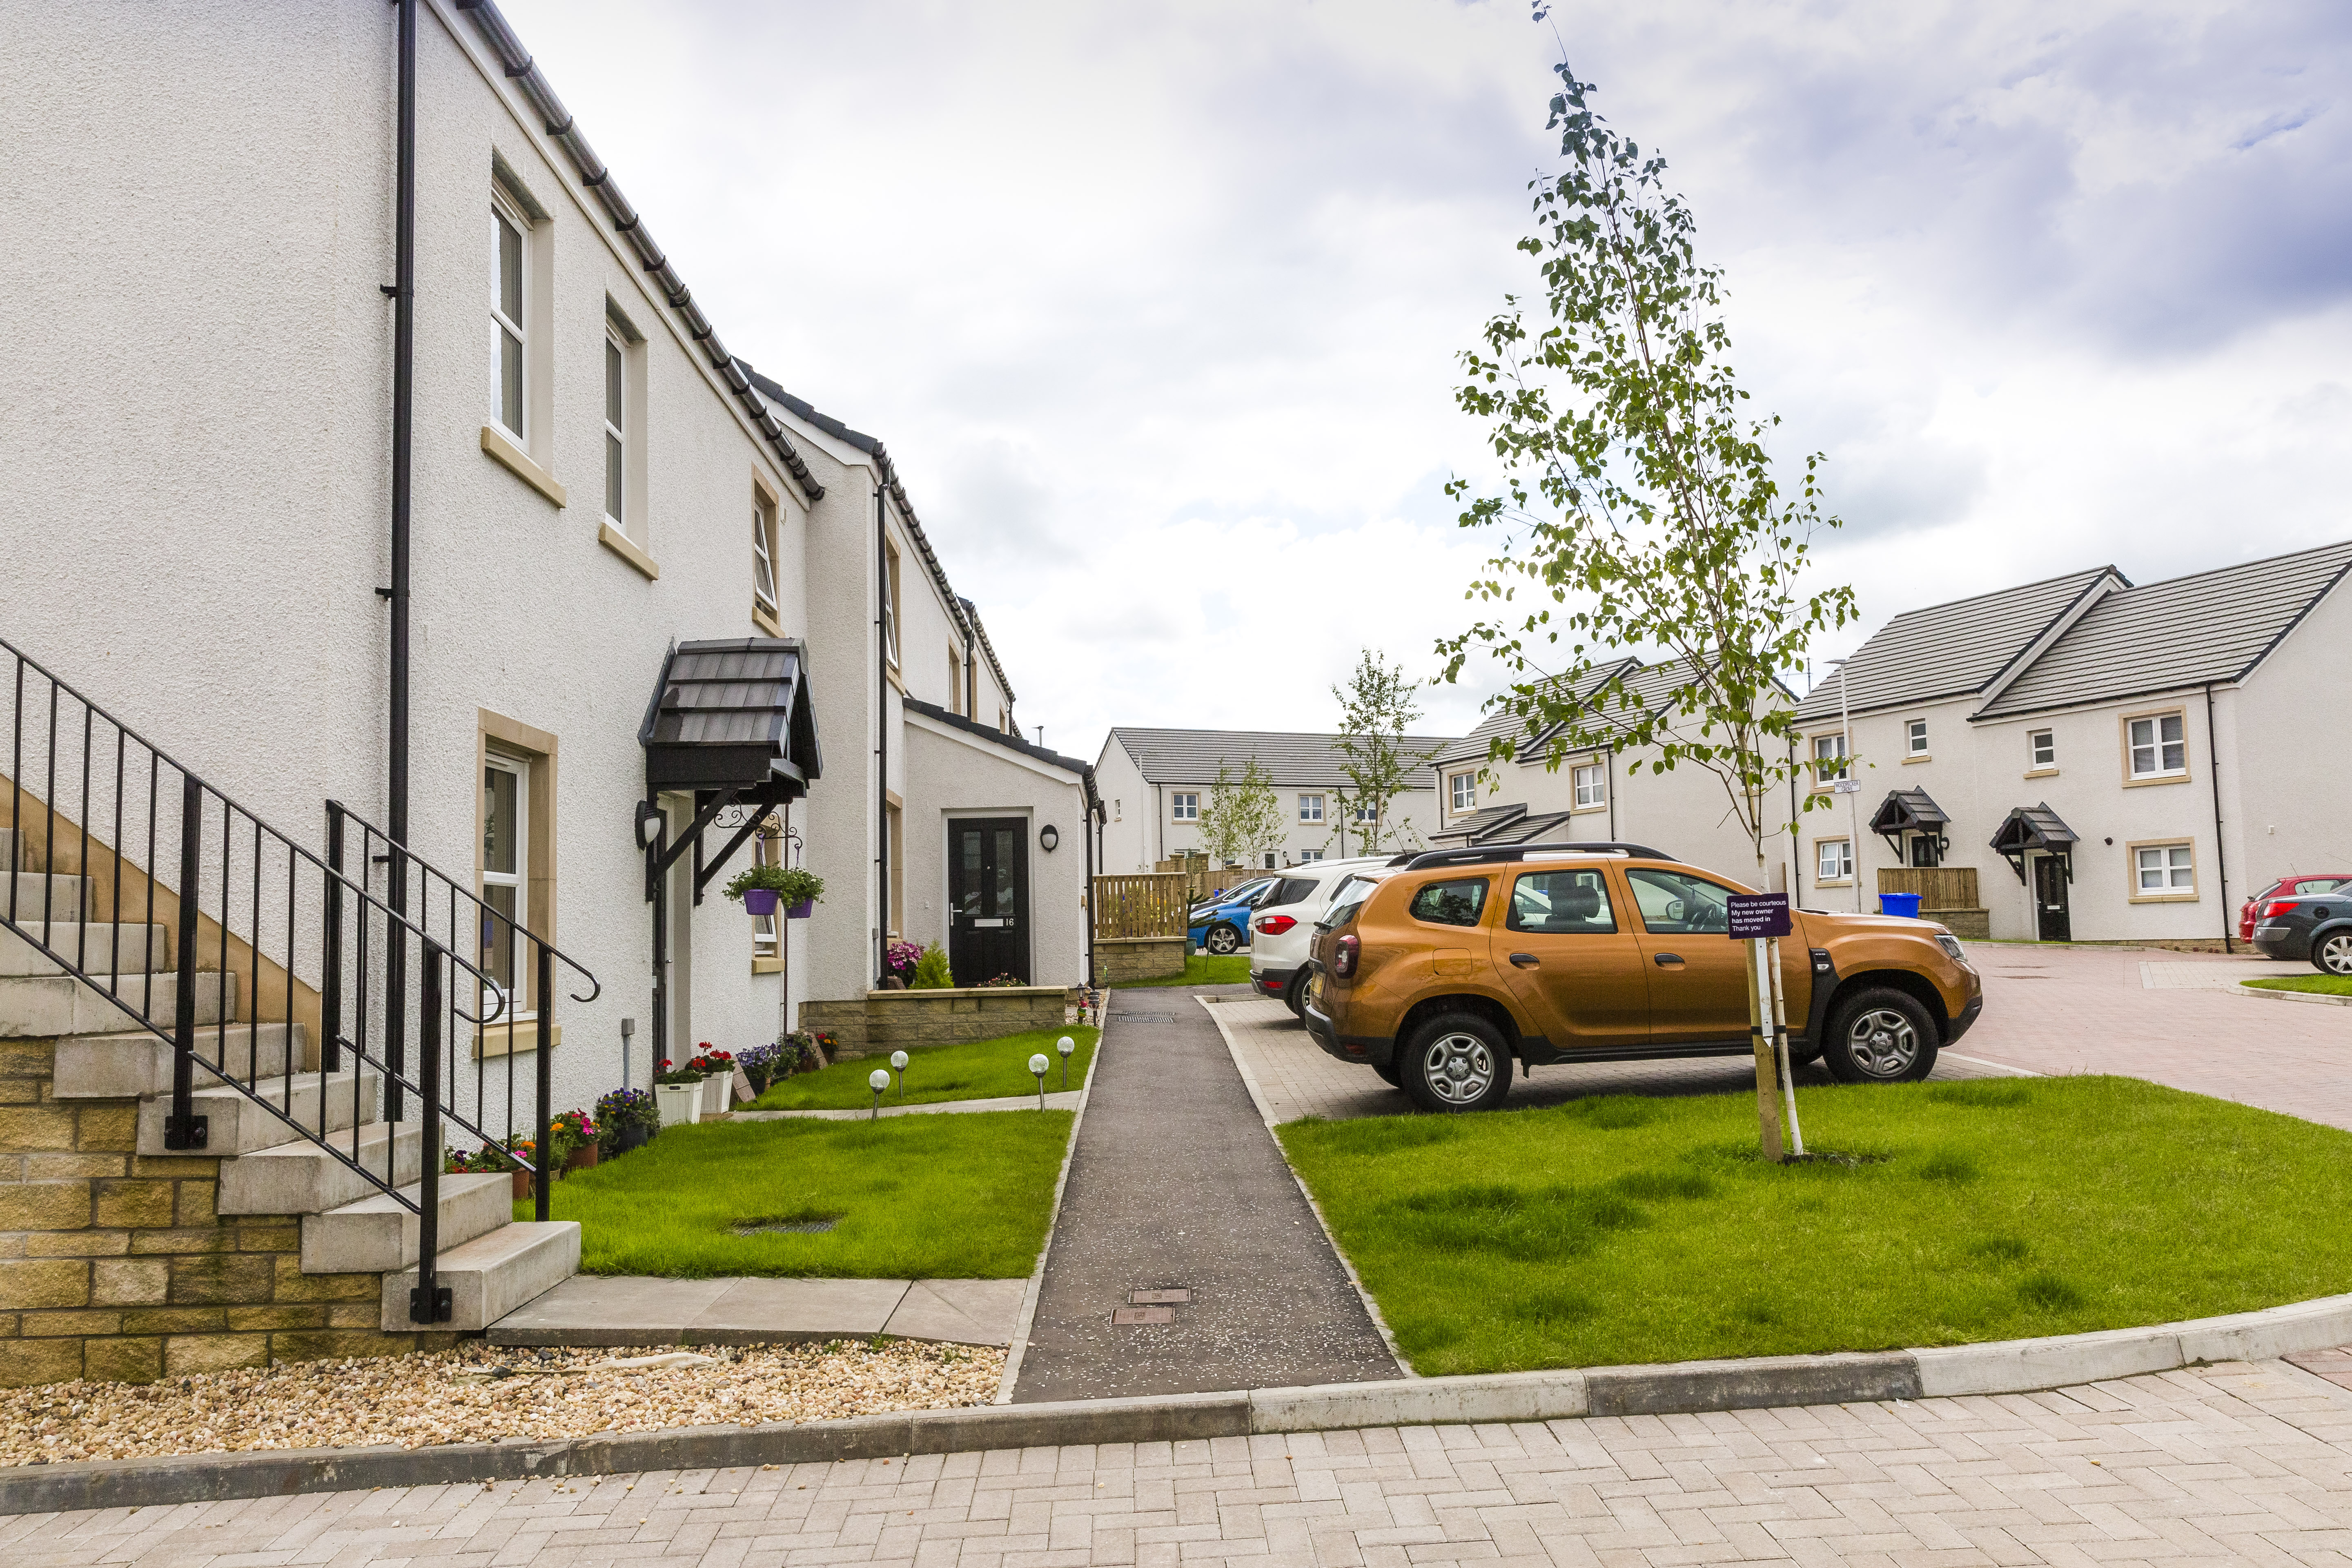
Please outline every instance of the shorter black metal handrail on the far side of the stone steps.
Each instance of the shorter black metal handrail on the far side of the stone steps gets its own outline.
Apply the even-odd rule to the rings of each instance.
[[[449,872],[440,870],[437,865],[419,856],[414,849],[393,842],[388,832],[369,823],[365,816],[360,816],[343,802],[329,799],[327,863],[334,865],[336,870],[343,870],[348,856],[353,853],[353,846],[348,842],[353,827],[360,830],[358,832],[360,842],[355,846],[355,853],[360,858],[358,877],[362,889],[367,889],[374,896],[381,867],[383,903],[388,903],[395,910],[402,910],[428,933],[435,929],[435,912],[437,912],[440,936],[435,940],[440,940],[442,947],[456,952],[461,940],[475,943],[475,952],[485,954],[485,961],[489,966],[496,966],[510,980],[529,976],[536,983],[536,1006],[529,1018],[517,1016],[515,1009],[510,1006],[506,1009],[506,1051],[503,1051],[506,1084],[501,1100],[506,1105],[506,1145],[513,1145],[515,1051],[517,1051],[515,1039],[517,1039],[517,1027],[536,1025],[534,1041],[524,1046],[529,1051],[536,1051],[532,1072],[532,1091],[536,1103],[536,1114],[532,1119],[532,1140],[534,1140],[532,1150],[546,1152],[548,1133],[553,1131],[550,1121],[553,1121],[555,1053],[550,1051],[550,1046],[555,1044],[555,964],[564,964],[583,980],[588,980],[588,994],[572,992],[574,1001],[595,1001],[597,997],[604,994],[604,983],[597,980],[595,973],[586,964],[574,959],[569,952],[546,940],[529,926],[517,924],[513,917],[489,905],[470,889],[461,886],[454,877],[449,877]],[[501,957],[503,964],[499,964]],[[517,957],[522,959],[522,969],[515,966]],[[400,957],[393,954],[393,961],[397,964]],[[499,987],[487,976],[485,969],[475,969],[473,973],[482,978],[482,985],[496,990],[501,999],[506,997],[508,987]],[[520,985],[515,990],[520,990]],[[496,1020],[496,1013],[492,1013],[492,1020]],[[334,1032],[327,1030],[327,1037],[332,1039]],[[400,1044],[397,1027],[390,1032],[390,1041],[395,1046]],[[475,1034],[475,1053],[473,1053],[473,1105],[475,1114],[482,1117],[485,1121],[487,1121],[485,1107],[489,1105],[489,1088],[492,1088],[489,1044],[492,1044],[489,1023],[485,1023]],[[402,1063],[393,1063],[395,1070]],[[454,1041],[452,1041],[452,1070],[454,1070]],[[407,1086],[407,1079],[388,1070],[386,1084]],[[532,1199],[534,1199],[532,1208],[541,1220],[546,1220],[555,1173],[548,1168],[546,1159],[541,1159],[536,1166],[529,1168],[532,1168]]]

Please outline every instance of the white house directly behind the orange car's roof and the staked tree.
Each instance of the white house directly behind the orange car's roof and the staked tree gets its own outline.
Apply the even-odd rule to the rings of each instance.
[[[1639,658],[1595,663],[1578,682],[1592,696],[1611,679],[1649,708],[1682,679],[1679,661],[1646,665]],[[1795,703],[1795,696],[1790,696]],[[1616,724],[1597,715],[1599,724]],[[1656,748],[1588,745],[1552,757],[1559,724],[1526,731],[1526,719],[1494,712],[1477,729],[1437,755],[1439,820],[1435,846],[1468,844],[1590,844],[1621,842],[1658,849],[1689,865],[1743,884],[1788,886],[1788,820],[1783,795],[1766,804],[1771,837],[1764,867],[1740,827],[1724,780],[1691,762],[1661,773]],[[1510,738],[1510,755],[1494,757],[1494,741]]]

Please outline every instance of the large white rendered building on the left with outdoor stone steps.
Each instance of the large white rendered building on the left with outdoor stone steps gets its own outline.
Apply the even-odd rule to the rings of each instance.
[[[78,1150],[40,1180],[89,1192],[71,1258],[0,1260],[0,1307],[61,1309],[38,1331],[26,1316],[9,1342],[40,1338],[40,1354],[12,1352],[0,1380],[360,1354],[482,1326],[409,1321],[400,1269],[419,1260],[400,1227],[320,1253],[341,1295],[275,1295],[327,1267],[313,1229],[332,1232],[341,1204],[386,1190],[414,1206],[419,1171],[440,1166],[414,1121],[423,1091],[393,1093],[381,1056],[341,1056],[336,1079],[355,1084],[336,1114],[358,1117],[369,1152],[313,1161],[310,1197],[268,1199],[294,1206],[261,1211],[268,1225],[233,1218],[235,1168],[256,1152],[238,1140],[287,1128],[254,1131],[245,1100],[219,1105],[209,1152],[136,1204],[99,1192],[136,1154],[195,1145],[193,1128],[148,1126],[155,1039],[129,1039],[141,1020],[75,980],[92,945],[108,964],[136,954],[165,997],[174,954],[200,964],[198,1018],[228,1030],[214,1048],[268,1058],[301,1079],[282,1093],[315,1105],[336,1060],[322,1048],[383,1053],[395,1023],[430,1016],[421,994],[383,1011],[423,973],[409,945],[405,969],[379,966],[383,992],[327,1023],[320,954],[388,952],[320,940],[358,903],[322,912],[325,867],[303,858],[334,853],[327,802],[348,809],[353,879],[388,875],[369,867],[395,860],[379,837],[393,832],[447,875],[407,917],[485,978],[473,992],[449,966],[445,1001],[520,1018],[513,1034],[440,1020],[440,1093],[475,1128],[508,1126],[541,1072],[557,1107],[586,1107],[621,1086],[623,1051],[644,1086],[663,1053],[774,1041],[802,1004],[863,997],[894,933],[946,940],[971,976],[1084,978],[1087,766],[1021,738],[981,616],[882,444],[722,343],[654,242],[659,219],[621,195],[496,5],[66,0],[12,16],[5,56],[0,484],[16,527],[0,715],[28,750],[0,780],[16,872],[0,877],[16,898],[0,990],[26,992],[0,1009],[24,1044],[0,1088],[42,1112],[0,1150]],[[92,729],[47,724],[49,691]],[[200,780],[193,795],[172,769]],[[176,851],[200,820],[183,799],[249,813],[228,837],[205,830],[219,863]],[[263,827],[285,891],[245,849]],[[75,870],[106,856],[167,905],[193,867],[186,924]],[[720,889],[755,858],[818,872],[823,900],[750,917]],[[214,900],[223,882],[235,900]],[[532,1009],[550,964],[510,952],[508,917],[595,976],[564,973],[546,1060]],[[151,1018],[176,1027],[169,1006]],[[414,1074],[423,1037],[405,1048]],[[480,1138],[440,1126],[452,1147]],[[506,1225],[503,1180],[447,1178],[445,1248]],[[40,1197],[59,1215],[78,1201]],[[252,1234],[223,1246],[214,1227]],[[517,1281],[553,1284],[560,1232],[515,1232],[468,1265],[461,1319]],[[108,1251],[153,1258],[115,1267]],[[233,1253],[233,1279],[191,1295]],[[26,1251],[0,1234],[0,1258]],[[167,1312],[188,1300],[205,1309]]]

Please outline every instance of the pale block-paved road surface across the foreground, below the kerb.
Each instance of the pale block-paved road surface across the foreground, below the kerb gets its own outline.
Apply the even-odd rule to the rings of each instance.
[[[9,1568],[1973,1568],[2352,1556],[2352,1392],[2056,1394],[1303,1432],[0,1519]]]

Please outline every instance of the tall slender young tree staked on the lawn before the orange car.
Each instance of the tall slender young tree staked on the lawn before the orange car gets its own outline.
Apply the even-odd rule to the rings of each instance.
[[[1519,242],[1543,315],[1531,322],[1510,296],[1463,355],[1456,393],[1503,461],[1503,494],[1470,501],[1461,524],[1503,541],[1470,588],[1489,609],[1439,644],[1446,679],[1472,649],[1498,658],[1510,672],[1498,703],[1522,733],[1550,731],[1552,766],[1613,745],[1649,752],[1658,773],[1712,773],[1762,879],[1773,788],[1802,766],[1780,675],[1802,668],[1816,632],[1853,618],[1851,588],[1799,581],[1813,536],[1839,520],[1820,505],[1820,454],[1795,496],[1771,477],[1764,437],[1780,421],[1740,407],[1722,270],[1698,263],[1665,160],[1592,113],[1590,82],[1566,63],[1557,73],[1548,125],[1566,167],[1531,186],[1541,233]],[[1649,701],[1604,663],[1635,649],[1668,654]],[[1496,738],[1496,762],[1517,738]],[[1766,1070],[1759,1053],[1771,1147]]]

